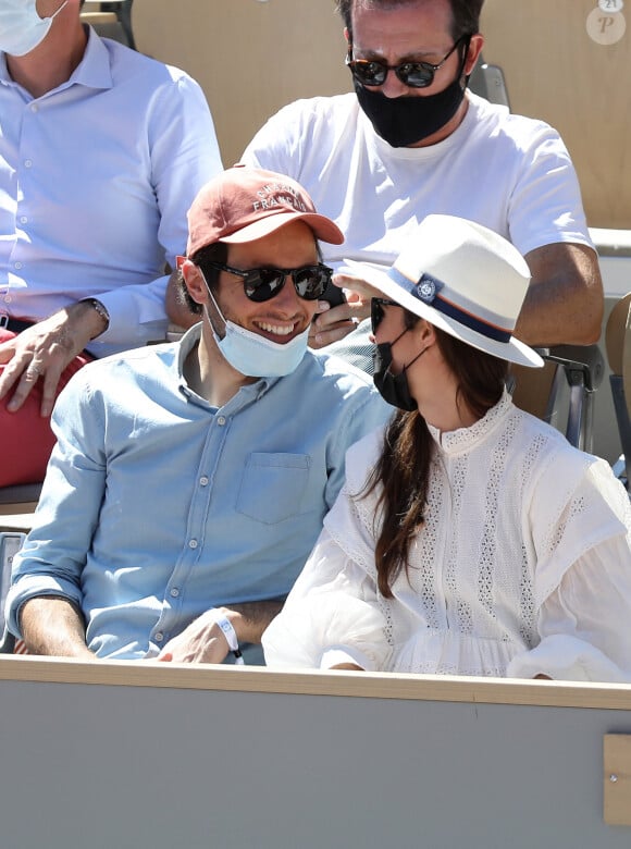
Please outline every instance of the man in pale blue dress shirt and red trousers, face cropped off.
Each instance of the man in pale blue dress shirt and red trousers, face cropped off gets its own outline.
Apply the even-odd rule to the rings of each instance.
[[[55,391],[83,349],[165,337],[165,263],[221,170],[187,74],[99,38],[78,0],[2,0],[0,485],[42,479]]]

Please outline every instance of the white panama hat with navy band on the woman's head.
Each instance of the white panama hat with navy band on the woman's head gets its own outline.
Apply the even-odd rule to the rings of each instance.
[[[530,270],[514,245],[456,216],[428,216],[387,271],[345,260],[367,283],[451,336],[533,368],[540,355],[512,336]]]

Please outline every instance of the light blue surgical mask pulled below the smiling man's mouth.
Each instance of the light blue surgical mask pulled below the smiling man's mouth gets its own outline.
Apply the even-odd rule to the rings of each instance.
[[[225,324],[225,335],[220,339],[207,310],[212,335],[218,348],[233,369],[249,378],[283,378],[298,368],[307,350],[309,328],[298,336],[294,336],[290,342],[284,344],[272,342],[235,324],[234,321],[226,321],[211,292],[210,297]]]

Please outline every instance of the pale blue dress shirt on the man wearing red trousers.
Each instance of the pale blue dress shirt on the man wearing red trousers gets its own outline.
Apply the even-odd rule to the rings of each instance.
[[[0,316],[39,320],[98,297],[96,356],[164,339],[165,262],[221,171],[203,93],[89,30],[71,78],[33,98],[0,53]]]

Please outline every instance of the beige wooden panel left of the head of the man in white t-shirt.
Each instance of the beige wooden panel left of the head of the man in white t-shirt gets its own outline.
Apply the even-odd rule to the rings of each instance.
[[[285,103],[350,89],[333,0],[135,0],[138,49],[202,86],[224,164]]]

